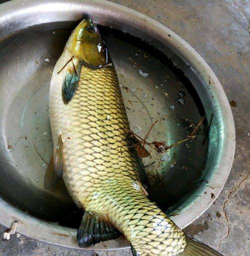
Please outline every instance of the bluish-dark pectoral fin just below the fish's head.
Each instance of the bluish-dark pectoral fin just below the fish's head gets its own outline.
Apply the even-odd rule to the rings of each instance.
[[[62,84],[62,98],[64,103],[68,103],[73,97],[80,78],[81,62],[73,58],[67,65],[67,70]]]

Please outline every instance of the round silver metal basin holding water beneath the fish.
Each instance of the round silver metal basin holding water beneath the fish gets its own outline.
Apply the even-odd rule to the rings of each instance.
[[[17,232],[78,247],[81,212],[63,185],[43,188],[52,149],[48,90],[53,66],[83,14],[100,24],[116,67],[130,127],[148,140],[177,142],[201,116],[209,135],[151,150],[144,163],[150,197],[180,227],[215,200],[230,172],[235,134],[232,113],[217,78],[183,39],[129,8],[96,0],[24,0],[0,5],[0,223]],[[110,28],[112,27],[112,28]],[[150,148],[149,148],[150,150]],[[153,163],[151,163],[153,162]],[[88,249],[129,246],[125,238]]]

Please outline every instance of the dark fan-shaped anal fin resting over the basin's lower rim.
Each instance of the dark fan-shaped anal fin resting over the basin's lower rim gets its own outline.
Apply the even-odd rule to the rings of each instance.
[[[116,239],[119,236],[120,232],[112,224],[89,211],[84,212],[77,232],[80,247],[87,247],[100,241]]]

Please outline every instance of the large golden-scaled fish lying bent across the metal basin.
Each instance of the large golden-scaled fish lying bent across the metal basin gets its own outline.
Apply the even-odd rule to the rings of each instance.
[[[82,209],[80,247],[122,234],[133,256],[221,255],[184,234],[149,200],[115,67],[89,17],[75,27],[55,64],[49,113],[53,151],[44,187],[62,178]]]

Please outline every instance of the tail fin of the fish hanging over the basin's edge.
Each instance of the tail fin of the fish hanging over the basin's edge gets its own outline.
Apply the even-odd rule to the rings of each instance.
[[[178,256],[223,256],[219,252],[210,248],[189,236],[186,236],[186,247]]]

